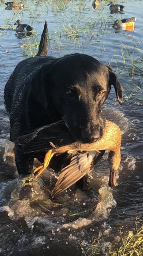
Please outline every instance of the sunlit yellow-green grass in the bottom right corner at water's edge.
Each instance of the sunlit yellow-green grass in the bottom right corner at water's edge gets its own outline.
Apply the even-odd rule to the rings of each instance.
[[[91,243],[78,240],[82,254],[84,256],[94,256],[94,255],[106,255],[106,256],[141,256],[143,255],[143,223],[138,218],[135,221],[135,226],[132,230],[123,231],[121,229],[119,237],[119,242],[113,241],[109,245],[108,252],[103,253],[108,247],[107,244],[103,245],[102,240],[100,240],[100,235],[96,238],[93,237]],[[107,245],[107,246],[106,246]],[[103,253],[103,254],[102,254]]]

